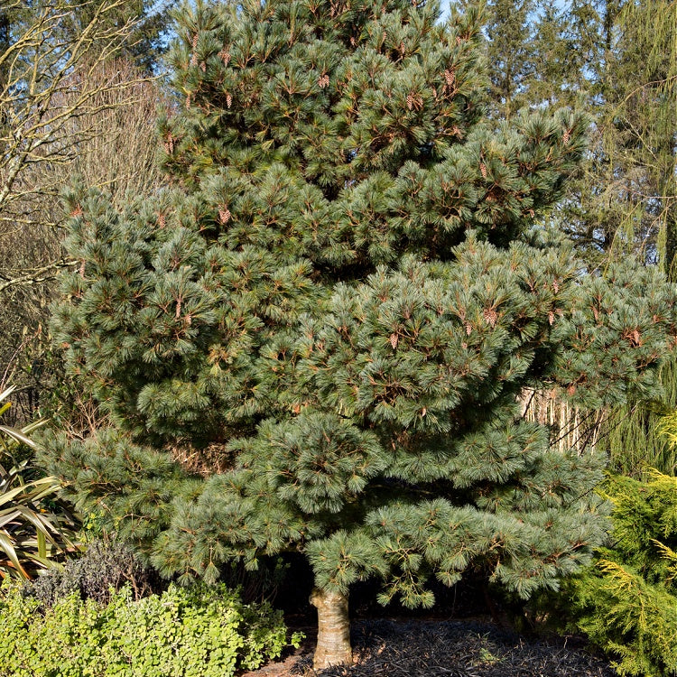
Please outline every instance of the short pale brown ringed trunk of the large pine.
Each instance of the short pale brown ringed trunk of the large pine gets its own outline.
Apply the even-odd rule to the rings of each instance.
[[[352,663],[348,598],[339,592],[316,588],[311,594],[311,604],[318,609],[318,645],[313,660],[315,670]]]

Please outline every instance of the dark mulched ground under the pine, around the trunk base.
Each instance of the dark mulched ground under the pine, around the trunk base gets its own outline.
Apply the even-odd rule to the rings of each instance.
[[[617,677],[580,642],[527,638],[484,621],[365,620],[352,635],[355,665],[314,672],[308,643],[251,677]]]

